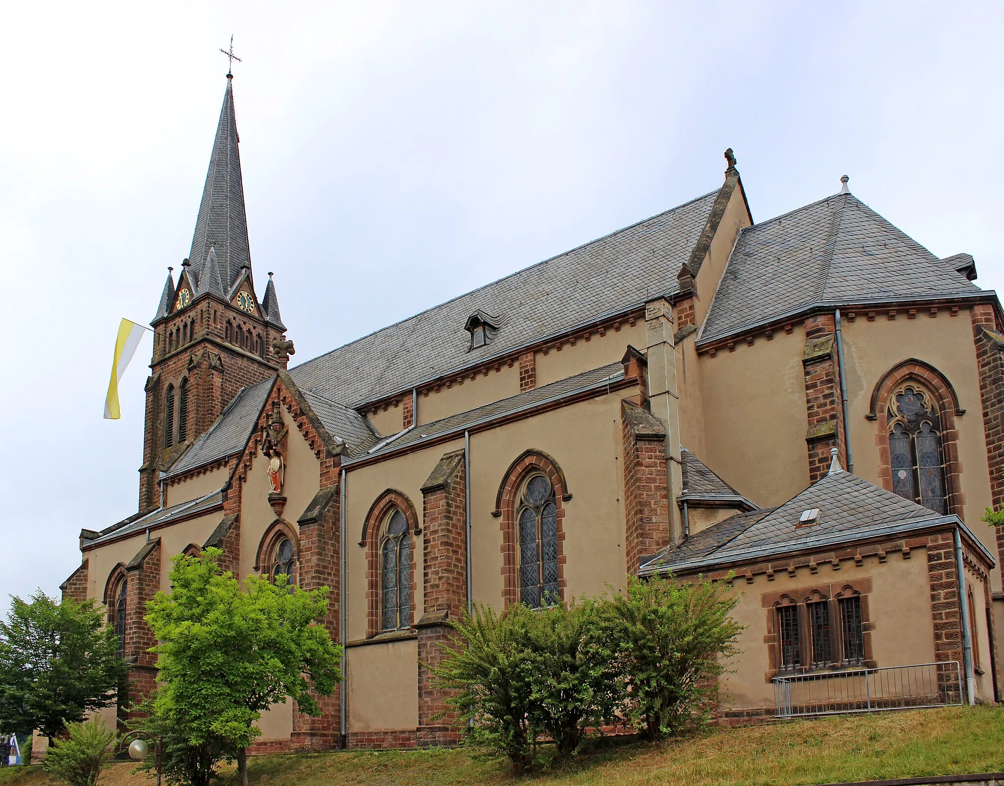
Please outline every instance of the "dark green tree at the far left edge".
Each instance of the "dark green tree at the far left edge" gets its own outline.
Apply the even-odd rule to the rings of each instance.
[[[12,598],[0,621],[0,731],[52,738],[115,703],[128,674],[114,630],[92,600]]]

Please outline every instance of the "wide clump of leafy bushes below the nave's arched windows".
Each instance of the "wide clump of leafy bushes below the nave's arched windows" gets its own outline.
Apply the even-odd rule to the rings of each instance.
[[[522,772],[544,739],[567,757],[608,724],[656,740],[704,721],[737,651],[737,602],[724,582],[632,579],[622,595],[568,606],[478,604],[432,671],[462,728]]]

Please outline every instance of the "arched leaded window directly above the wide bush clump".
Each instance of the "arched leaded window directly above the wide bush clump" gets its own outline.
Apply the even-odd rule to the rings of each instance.
[[[516,514],[519,600],[534,608],[557,602],[558,519],[554,487],[545,475],[523,484]]]

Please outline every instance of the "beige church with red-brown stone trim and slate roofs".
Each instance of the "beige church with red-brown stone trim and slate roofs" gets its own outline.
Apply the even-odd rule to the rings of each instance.
[[[630,576],[742,593],[724,718],[775,714],[785,676],[928,664],[996,701],[1001,304],[846,177],[754,221],[725,156],[706,194],[293,364],[228,75],[191,251],[151,293],[139,506],[80,531],[62,585],[117,631],[117,712],[156,683],[146,602],[210,546],[329,587],[345,647],[323,714],[272,707],[256,753],[455,743],[425,666],[454,620]]]

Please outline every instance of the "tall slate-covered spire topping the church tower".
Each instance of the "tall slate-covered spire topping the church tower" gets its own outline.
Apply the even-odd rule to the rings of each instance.
[[[224,291],[230,288],[241,266],[250,259],[238,143],[233,76],[227,74],[227,89],[223,94],[220,121],[192,238],[192,253],[189,254],[189,259],[194,260],[196,276],[201,279],[210,249],[215,247]]]

